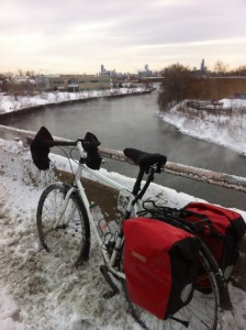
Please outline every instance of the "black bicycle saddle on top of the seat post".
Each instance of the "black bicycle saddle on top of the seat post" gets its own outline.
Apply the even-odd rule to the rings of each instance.
[[[127,147],[124,150],[124,155],[139,166],[152,166],[156,163],[165,165],[167,157],[160,154],[149,154],[141,150]]]

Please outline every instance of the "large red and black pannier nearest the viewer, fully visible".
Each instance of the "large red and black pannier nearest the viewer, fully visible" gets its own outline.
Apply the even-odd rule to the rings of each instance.
[[[125,220],[123,231],[130,299],[160,319],[189,304],[198,274],[199,239],[148,218]]]

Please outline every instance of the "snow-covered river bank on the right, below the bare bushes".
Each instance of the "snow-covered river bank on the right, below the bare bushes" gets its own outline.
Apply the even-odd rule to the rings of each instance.
[[[213,142],[246,155],[246,100],[222,99],[223,112],[180,109],[159,111],[164,121],[175,125],[183,134]],[[231,112],[232,109],[232,112]],[[227,113],[226,113],[227,112]]]

